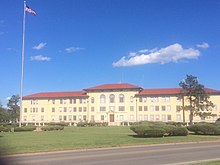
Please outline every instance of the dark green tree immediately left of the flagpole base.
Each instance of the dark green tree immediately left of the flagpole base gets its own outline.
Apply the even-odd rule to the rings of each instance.
[[[8,110],[10,111],[10,119],[12,122],[17,122],[19,119],[19,110],[20,106],[18,105],[19,103],[19,95],[13,95],[9,100],[8,100]]]

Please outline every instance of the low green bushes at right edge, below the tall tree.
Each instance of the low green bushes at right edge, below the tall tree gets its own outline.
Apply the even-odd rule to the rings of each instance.
[[[197,123],[190,125],[187,129],[196,135],[220,135],[220,123]]]

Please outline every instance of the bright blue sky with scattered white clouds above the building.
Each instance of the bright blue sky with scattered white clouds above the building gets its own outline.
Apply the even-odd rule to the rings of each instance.
[[[0,101],[20,92],[22,0],[0,3]],[[13,4],[13,5],[12,5]],[[220,89],[220,0],[27,0],[24,95],[126,82]]]

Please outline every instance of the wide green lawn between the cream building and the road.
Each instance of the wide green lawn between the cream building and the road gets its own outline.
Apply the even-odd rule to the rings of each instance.
[[[63,131],[0,133],[3,154],[220,140],[220,136],[137,138],[129,127],[65,127]]]

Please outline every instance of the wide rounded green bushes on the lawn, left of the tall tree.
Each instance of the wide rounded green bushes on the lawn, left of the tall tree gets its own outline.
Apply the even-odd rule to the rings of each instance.
[[[132,125],[130,129],[138,136],[163,137],[163,136],[187,136],[185,127],[169,125],[162,122],[142,122]]]

